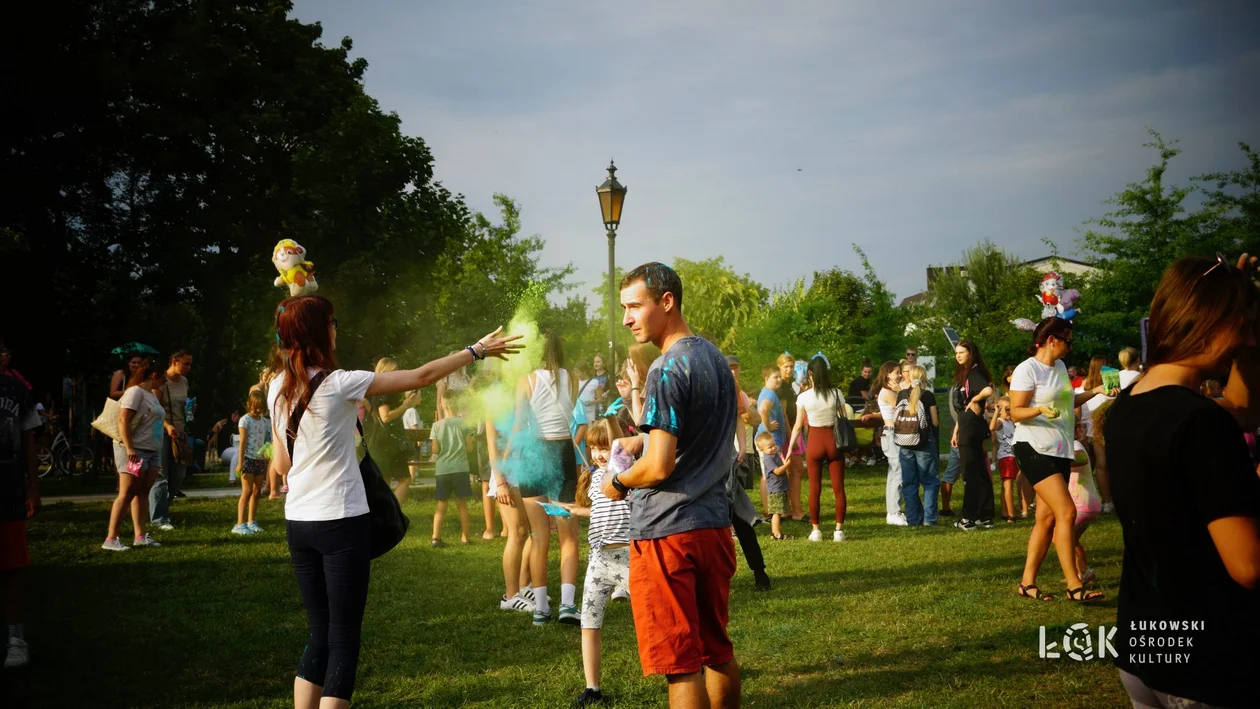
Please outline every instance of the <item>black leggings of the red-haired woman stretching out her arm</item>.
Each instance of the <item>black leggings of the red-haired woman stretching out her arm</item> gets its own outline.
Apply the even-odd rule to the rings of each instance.
[[[289,520],[285,526],[310,626],[297,676],[324,688],[324,696],[349,700],[368,603],[372,521],[360,515],[329,521]]]

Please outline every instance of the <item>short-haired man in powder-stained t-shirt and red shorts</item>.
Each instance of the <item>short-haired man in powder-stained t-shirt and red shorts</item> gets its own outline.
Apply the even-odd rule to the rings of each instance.
[[[609,476],[630,499],[630,606],[644,675],[665,675],[674,706],[738,703],[726,632],[735,576],[726,480],[735,463],[737,392],[726,358],[683,320],[673,268],[645,263],[621,281],[622,324],[664,353],[644,382],[646,452]],[[707,674],[702,674],[703,669]]]

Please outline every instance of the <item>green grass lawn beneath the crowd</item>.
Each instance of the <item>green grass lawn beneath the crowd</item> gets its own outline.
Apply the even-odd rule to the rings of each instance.
[[[1110,662],[1038,659],[1038,626],[1061,638],[1076,622],[1115,621],[1115,518],[1085,536],[1108,599],[1061,599],[1051,555],[1042,587],[1060,599],[1036,603],[1014,596],[1027,524],[886,526],[882,468],[852,471],[848,491],[843,544],[810,544],[803,524],[788,525],[789,542],[759,528],[770,593],[753,593],[740,557],[730,632],[745,705],[1125,705]],[[355,705],[566,706],[583,686],[580,631],[498,610],[500,542],[430,549],[428,495],[413,492],[411,533],[373,563]],[[62,504],[30,524],[33,664],[4,672],[0,695],[16,701],[0,704],[291,706],[306,623],[281,505],[263,504],[265,534],[238,538],[234,500],[180,500],[161,549],[121,554],[100,549],[107,509]],[[446,539],[457,540],[451,521]],[[605,623],[604,688],[611,706],[665,706],[664,680],[639,671],[625,603]]]

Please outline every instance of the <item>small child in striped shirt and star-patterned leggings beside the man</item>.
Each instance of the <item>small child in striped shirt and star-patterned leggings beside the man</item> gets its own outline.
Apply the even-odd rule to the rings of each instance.
[[[586,446],[593,467],[583,468],[577,481],[577,505],[564,505],[572,514],[590,516],[587,539],[591,554],[582,589],[582,669],[586,690],[576,706],[604,700],[600,691],[600,628],[609,597],[630,597],[630,505],[609,500],[601,492],[605,475],[616,475],[634,465],[621,450],[622,433],[612,418],[598,418],[586,431]],[[578,506],[583,505],[585,506]]]

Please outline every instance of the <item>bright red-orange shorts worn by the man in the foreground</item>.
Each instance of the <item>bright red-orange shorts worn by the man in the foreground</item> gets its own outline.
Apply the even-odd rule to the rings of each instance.
[[[689,675],[735,659],[726,633],[730,528],[630,543],[630,607],[644,675]]]

